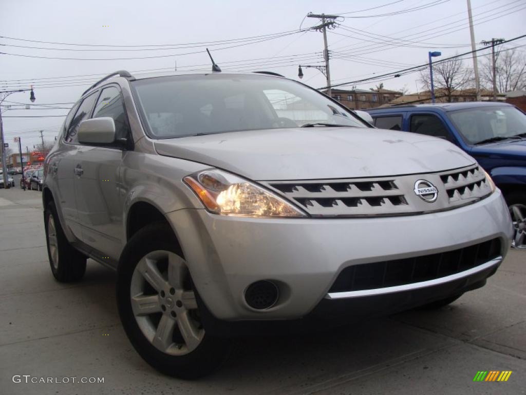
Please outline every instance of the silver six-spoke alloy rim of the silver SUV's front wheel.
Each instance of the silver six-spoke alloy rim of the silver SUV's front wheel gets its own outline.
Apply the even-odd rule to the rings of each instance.
[[[153,251],[145,255],[131,277],[130,301],[140,330],[158,350],[181,356],[203,341],[205,330],[190,273],[177,254]]]

